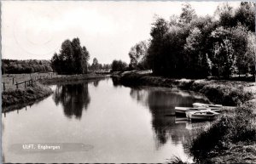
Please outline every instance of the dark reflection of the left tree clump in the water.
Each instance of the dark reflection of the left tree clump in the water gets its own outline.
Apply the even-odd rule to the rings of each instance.
[[[57,85],[53,99],[56,105],[63,106],[67,117],[80,118],[83,109],[86,110],[90,103],[88,83]]]

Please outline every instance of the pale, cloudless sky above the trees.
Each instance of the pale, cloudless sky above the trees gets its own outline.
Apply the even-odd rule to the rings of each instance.
[[[129,63],[137,42],[150,38],[157,14],[169,20],[183,2],[2,1],[2,58],[51,59],[61,42],[79,37],[99,63]],[[213,15],[221,2],[189,2],[197,15]],[[240,2],[230,2],[237,7]]]

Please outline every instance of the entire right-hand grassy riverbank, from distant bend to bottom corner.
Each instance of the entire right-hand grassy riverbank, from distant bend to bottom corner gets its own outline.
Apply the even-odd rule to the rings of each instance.
[[[203,93],[213,103],[237,105],[217,121],[197,132],[189,142],[195,161],[201,163],[256,162],[255,82],[170,79],[150,74],[126,72],[113,76],[124,85],[181,88]],[[182,162],[176,160],[178,162]]]

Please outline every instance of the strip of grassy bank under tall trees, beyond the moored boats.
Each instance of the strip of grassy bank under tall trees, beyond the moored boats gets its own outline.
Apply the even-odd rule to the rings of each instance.
[[[203,93],[212,103],[222,105],[241,105],[253,99],[255,93],[255,82],[171,79],[137,72],[116,75],[113,76],[113,80],[128,86],[146,85],[191,90]]]

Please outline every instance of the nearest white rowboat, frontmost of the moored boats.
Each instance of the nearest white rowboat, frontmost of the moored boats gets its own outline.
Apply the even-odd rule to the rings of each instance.
[[[212,110],[195,110],[186,112],[189,121],[212,121],[217,118],[219,113]]]

